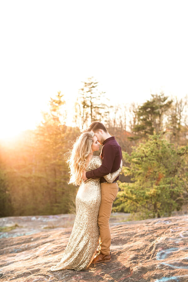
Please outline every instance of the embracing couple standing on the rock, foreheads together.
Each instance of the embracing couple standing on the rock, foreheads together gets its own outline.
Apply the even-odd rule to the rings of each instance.
[[[99,144],[101,154],[93,156]],[[102,123],[93,122],[76,139],[68,163],[69,183],[80,185],[76,219],[61,261],[51,271],[83,270],[91,263],[111,261],[109,219],[122,170],[121,147]]]

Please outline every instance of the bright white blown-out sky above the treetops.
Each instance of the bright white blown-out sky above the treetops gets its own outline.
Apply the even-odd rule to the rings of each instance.
[[[0,137],[34,128],[94,76],[112,103],[188,94],[187,1],[0,2]]]

